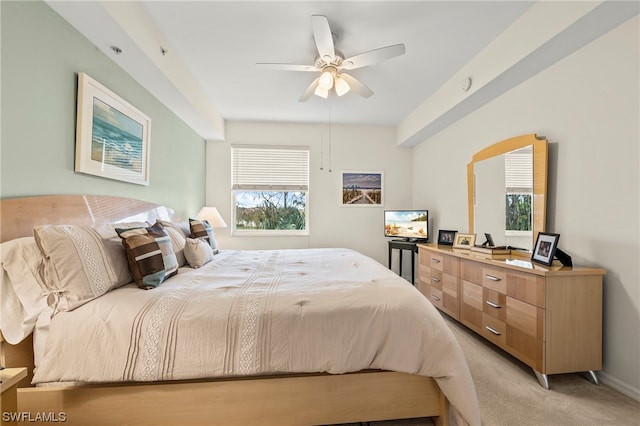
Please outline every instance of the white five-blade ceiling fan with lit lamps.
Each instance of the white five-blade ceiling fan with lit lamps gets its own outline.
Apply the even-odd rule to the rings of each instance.
[[[373,95],[373,91],[344,71],[373,65],[405,53],[404,44],[394,44],[345,59],[342,52],[334,46],[333,34],[326,16],[312,15],[311,26],[313,28],[313,38],[318,48],[318,57],[313,65],[256,64],[260,67],[276,70],[319,72],[320,76],[307,87],[307,90],[304,91],[299,99],[300,102],[308,100],[314,94],[327,98],[331,90],[335,90],[338,96],[342,96],[352,90],[354,93],[368,98]]]

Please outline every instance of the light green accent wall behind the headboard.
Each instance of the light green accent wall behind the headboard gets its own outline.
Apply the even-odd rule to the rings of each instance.
[[[205,201],[205,143],[40,1],[2,1],[2,198],[101,194],[167,205],[186,218]],[[74,172],[77,74],[151,118],[149,186]]]

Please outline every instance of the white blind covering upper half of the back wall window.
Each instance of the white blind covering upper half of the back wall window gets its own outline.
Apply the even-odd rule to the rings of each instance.
[[[307,191],[308,147],[231,147],[234,190]]]

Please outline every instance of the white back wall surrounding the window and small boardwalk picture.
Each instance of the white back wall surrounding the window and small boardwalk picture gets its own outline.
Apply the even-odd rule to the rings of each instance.
[[[411,150],[395,145],[393,128],[332,125],[329,131],[328,125],[227,123],[224,142],[207,142],[206,200],[208,205],[218,208],[228,225],[231,225],[232,144],[311,148],[310,235],[232,237],[230,228],[219,229],[216,235],[223,248],[348,247],[387,264],[383,210],[412,207]],[[384,207],[340,206],[341,171],[383,172]]]

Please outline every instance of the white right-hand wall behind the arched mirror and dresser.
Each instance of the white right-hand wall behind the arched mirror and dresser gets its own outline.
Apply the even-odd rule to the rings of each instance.
[[[606,268],[603,382],[640,399],[639,18],[414,148],[414,200],[437,229],[467,228],[466,164],[527,133],[546,136],[547,230],[576,264]],[[551,379],[553,383],[553,378]]]

